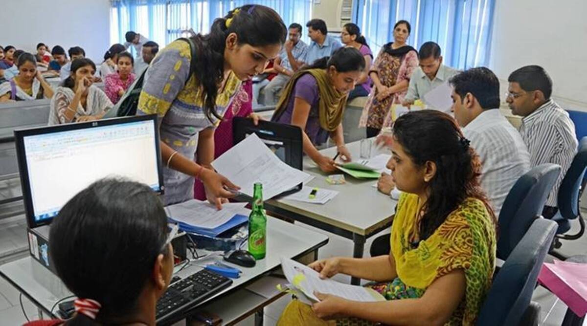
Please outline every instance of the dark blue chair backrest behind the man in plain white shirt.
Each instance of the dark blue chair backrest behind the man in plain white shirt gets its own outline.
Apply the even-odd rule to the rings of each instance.
[[[522,175],[505,197],[499,217],[497,257],[505,260],[526,234],[542,209],[561,167],[541,164]]]

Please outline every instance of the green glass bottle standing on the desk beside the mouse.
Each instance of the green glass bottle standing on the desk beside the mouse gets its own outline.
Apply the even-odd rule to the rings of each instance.
[[[263,209],[263,185],[255,183],[249,215],[249,252],[255,259],[264,259],[267,250],[267,216]]]

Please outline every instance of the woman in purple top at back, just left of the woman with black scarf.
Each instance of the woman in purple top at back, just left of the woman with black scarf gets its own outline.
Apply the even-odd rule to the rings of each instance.
[[[355,23],[347,23],[343,26],[342,32],[340,32],[340,39],[342,39],[342,43],[345,46],[352,46],[359,50],[359,52],[363,54],[366,63],[365,70],[363,70],[363,74],[357,82],[357,86],[355,86],[355,89],[349,93],[348,101],[359,96],[369,96],[372,83],[371,78],[369,77],[369,69],[373,62],[373,52],[371,52],[367,40],[361,35],[361,30]]]

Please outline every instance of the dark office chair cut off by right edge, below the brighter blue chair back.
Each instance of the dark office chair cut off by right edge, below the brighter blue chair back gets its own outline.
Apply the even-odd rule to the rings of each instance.
[[[565,178],[562,179],[561,188],[558,190],[558,212],[552,216],[558,224],[554,247],[561,247],[559,239],[576,240],[585,233],[585,220],[581,216],[581,194],[585,189],[585,169],[587,168],[587,137],[583,137],[579,142],[579,150],[573,158],[571,167],[566,171]],[[565,234],[571,229],[571,220],[579,218],[580,229],[574,235]],[[551,252],[559,259],[565,259],[562,254]]]

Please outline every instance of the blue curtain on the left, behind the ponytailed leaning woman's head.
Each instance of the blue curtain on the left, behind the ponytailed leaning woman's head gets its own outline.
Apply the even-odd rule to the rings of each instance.
[[[111,43],[124,43],[129,30],[167,45],[188,35],[187,30],[207,33],[215,18],[245,4],[275,9],[286,25],[305,25],[311,17],[312,0],[112,0]],[[306,43],[307,35],[304,36]]]

